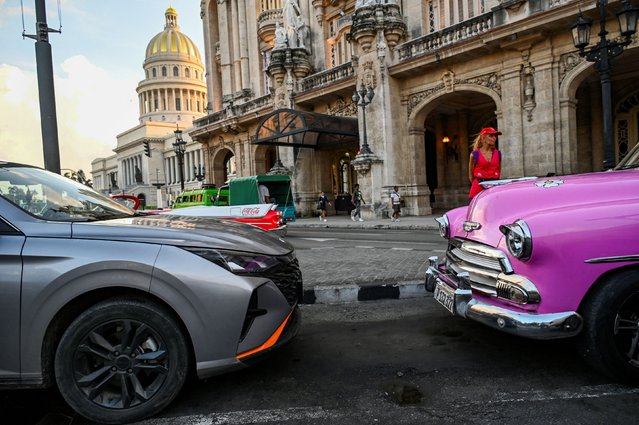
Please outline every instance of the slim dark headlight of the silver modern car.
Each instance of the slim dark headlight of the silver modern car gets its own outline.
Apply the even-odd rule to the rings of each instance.
[[[235,274],[262,274],[281,264],[278,257],[254,252],[184,247],[185,250]]]

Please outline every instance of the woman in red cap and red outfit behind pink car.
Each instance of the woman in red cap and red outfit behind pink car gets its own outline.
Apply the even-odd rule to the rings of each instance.
[[[468,178],[471,183],[468,194],[470,199],[484,190],[479,183],[496,180],[501,176],[501,152],[495,146],[497,136],[500,134],[501,131],[485,127],[475,138],[468,163]]]

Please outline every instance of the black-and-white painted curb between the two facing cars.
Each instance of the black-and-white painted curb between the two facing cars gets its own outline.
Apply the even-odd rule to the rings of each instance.
[[[303,304],[340,304],[382,299],[421,298],[429,294],[423,281],[380,285],[330,285],[304,290]]]

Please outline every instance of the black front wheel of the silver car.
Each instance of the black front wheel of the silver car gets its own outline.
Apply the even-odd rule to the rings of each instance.
[[[186,340],[173,315],[141,299],[92,306],[67,328],[55,355],[67,403],[107,424],[158,413],[180,392],[188,369]]]

